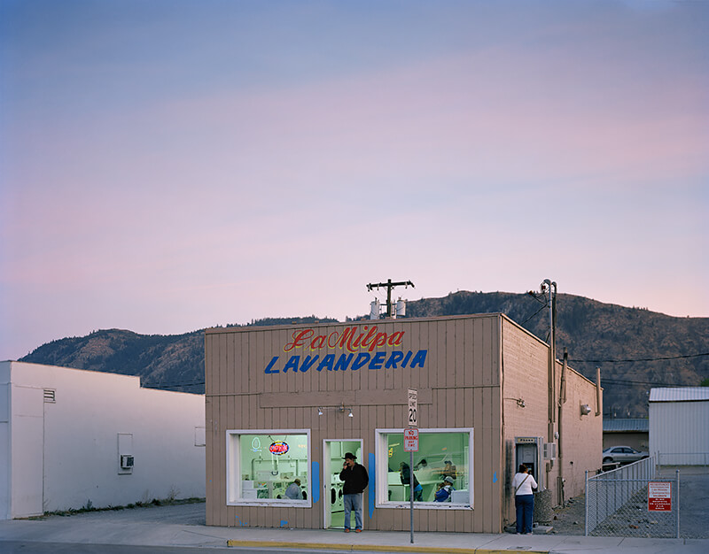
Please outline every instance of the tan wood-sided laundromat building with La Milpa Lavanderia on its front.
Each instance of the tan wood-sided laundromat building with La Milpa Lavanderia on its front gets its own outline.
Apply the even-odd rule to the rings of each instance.
[[[353,452],[370,475],[364,528],[409,530],[409,389],[417,531],[502,532],[521,462],[552,504],[601,466],[600,384],[501,313],[216,327],[205,354],[207,525],[343,527]],[[454,491],[435,502],[446,475]]]

